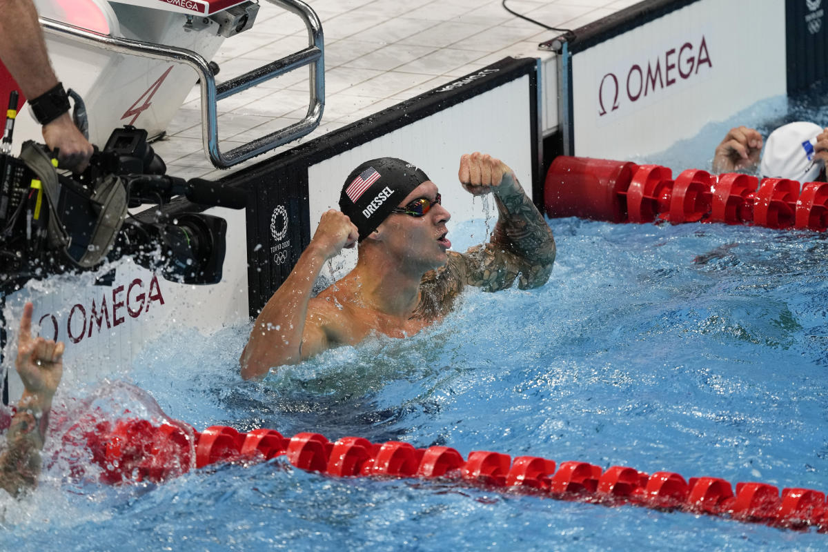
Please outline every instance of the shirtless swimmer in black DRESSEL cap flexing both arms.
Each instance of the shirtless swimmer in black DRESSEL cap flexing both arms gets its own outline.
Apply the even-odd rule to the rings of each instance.
[[[322,215],[290,276],[258,315],[239,362],[242,377],[295,364],[369,334],[402,338],[442,319],[465,286],[529,289],[548,280],[555,262],[551,229],[513,171],[492,156],[460,157],[469,194],[493,194],[498,223],[489,243],[449,251],[450,214],[420,168],[384,157],[345,180],[339,208]],[[357,266],[311,297],[322,266],[359,242]]]

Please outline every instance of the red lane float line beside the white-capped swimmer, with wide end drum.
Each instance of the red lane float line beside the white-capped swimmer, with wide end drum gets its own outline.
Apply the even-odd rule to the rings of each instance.
[[[688,169],[672,178],[664,166],[557,156],[546,173],[550,217],[612,223],[755,224],[828,229],[828,184]]]

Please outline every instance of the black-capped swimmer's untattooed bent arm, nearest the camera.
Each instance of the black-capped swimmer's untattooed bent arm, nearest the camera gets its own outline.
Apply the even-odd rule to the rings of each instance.
[[[346,215],[334,209],[322,215],[310,244],[253,324],[239,359],[244,379],[264,377],[271,367],[296,364],[327,347],[325,318],[308,315],[310,292],[325,262],[354,247],[358,236]]]

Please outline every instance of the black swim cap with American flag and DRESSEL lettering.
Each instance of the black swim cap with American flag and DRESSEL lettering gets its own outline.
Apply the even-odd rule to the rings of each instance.
[[[362,242],[426,180],[431,180],[426,173],[402,159],[382,157],[365,161],[345,180],[339,210],[359,229]]]

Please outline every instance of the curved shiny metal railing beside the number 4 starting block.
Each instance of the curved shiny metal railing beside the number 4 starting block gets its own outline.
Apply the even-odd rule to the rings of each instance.
[[[325,108],[325,45],[322,26],[316,13],[301,0],[268,0],[302,18],[308,31],[308,47],[272,61],[258,69],[248,71],[220,86],[216,86],[213,71],[205,58],[192,51],[174,46],[163,46],[152,42],[134,41],[116,36],[87,31],[76,26],[41,17],[41,26],[47,33],[68,36],[82,44],[99,46],[104,50],[120,54],[138,55],[156,60],[171,60],[190,65],[199,75],[201,89],[201,135],[209,160],[219,169],[224,169],[258,156],[287,142],[306,136],[319,126]],[[305,65],[312,65],[310,71],[310,94],[305,118],[289,127],[281,128],[252,142],[233,148],[219,150],[219,125],[217,106],[219,99],[228,98],[257,84],[286,74]]]

